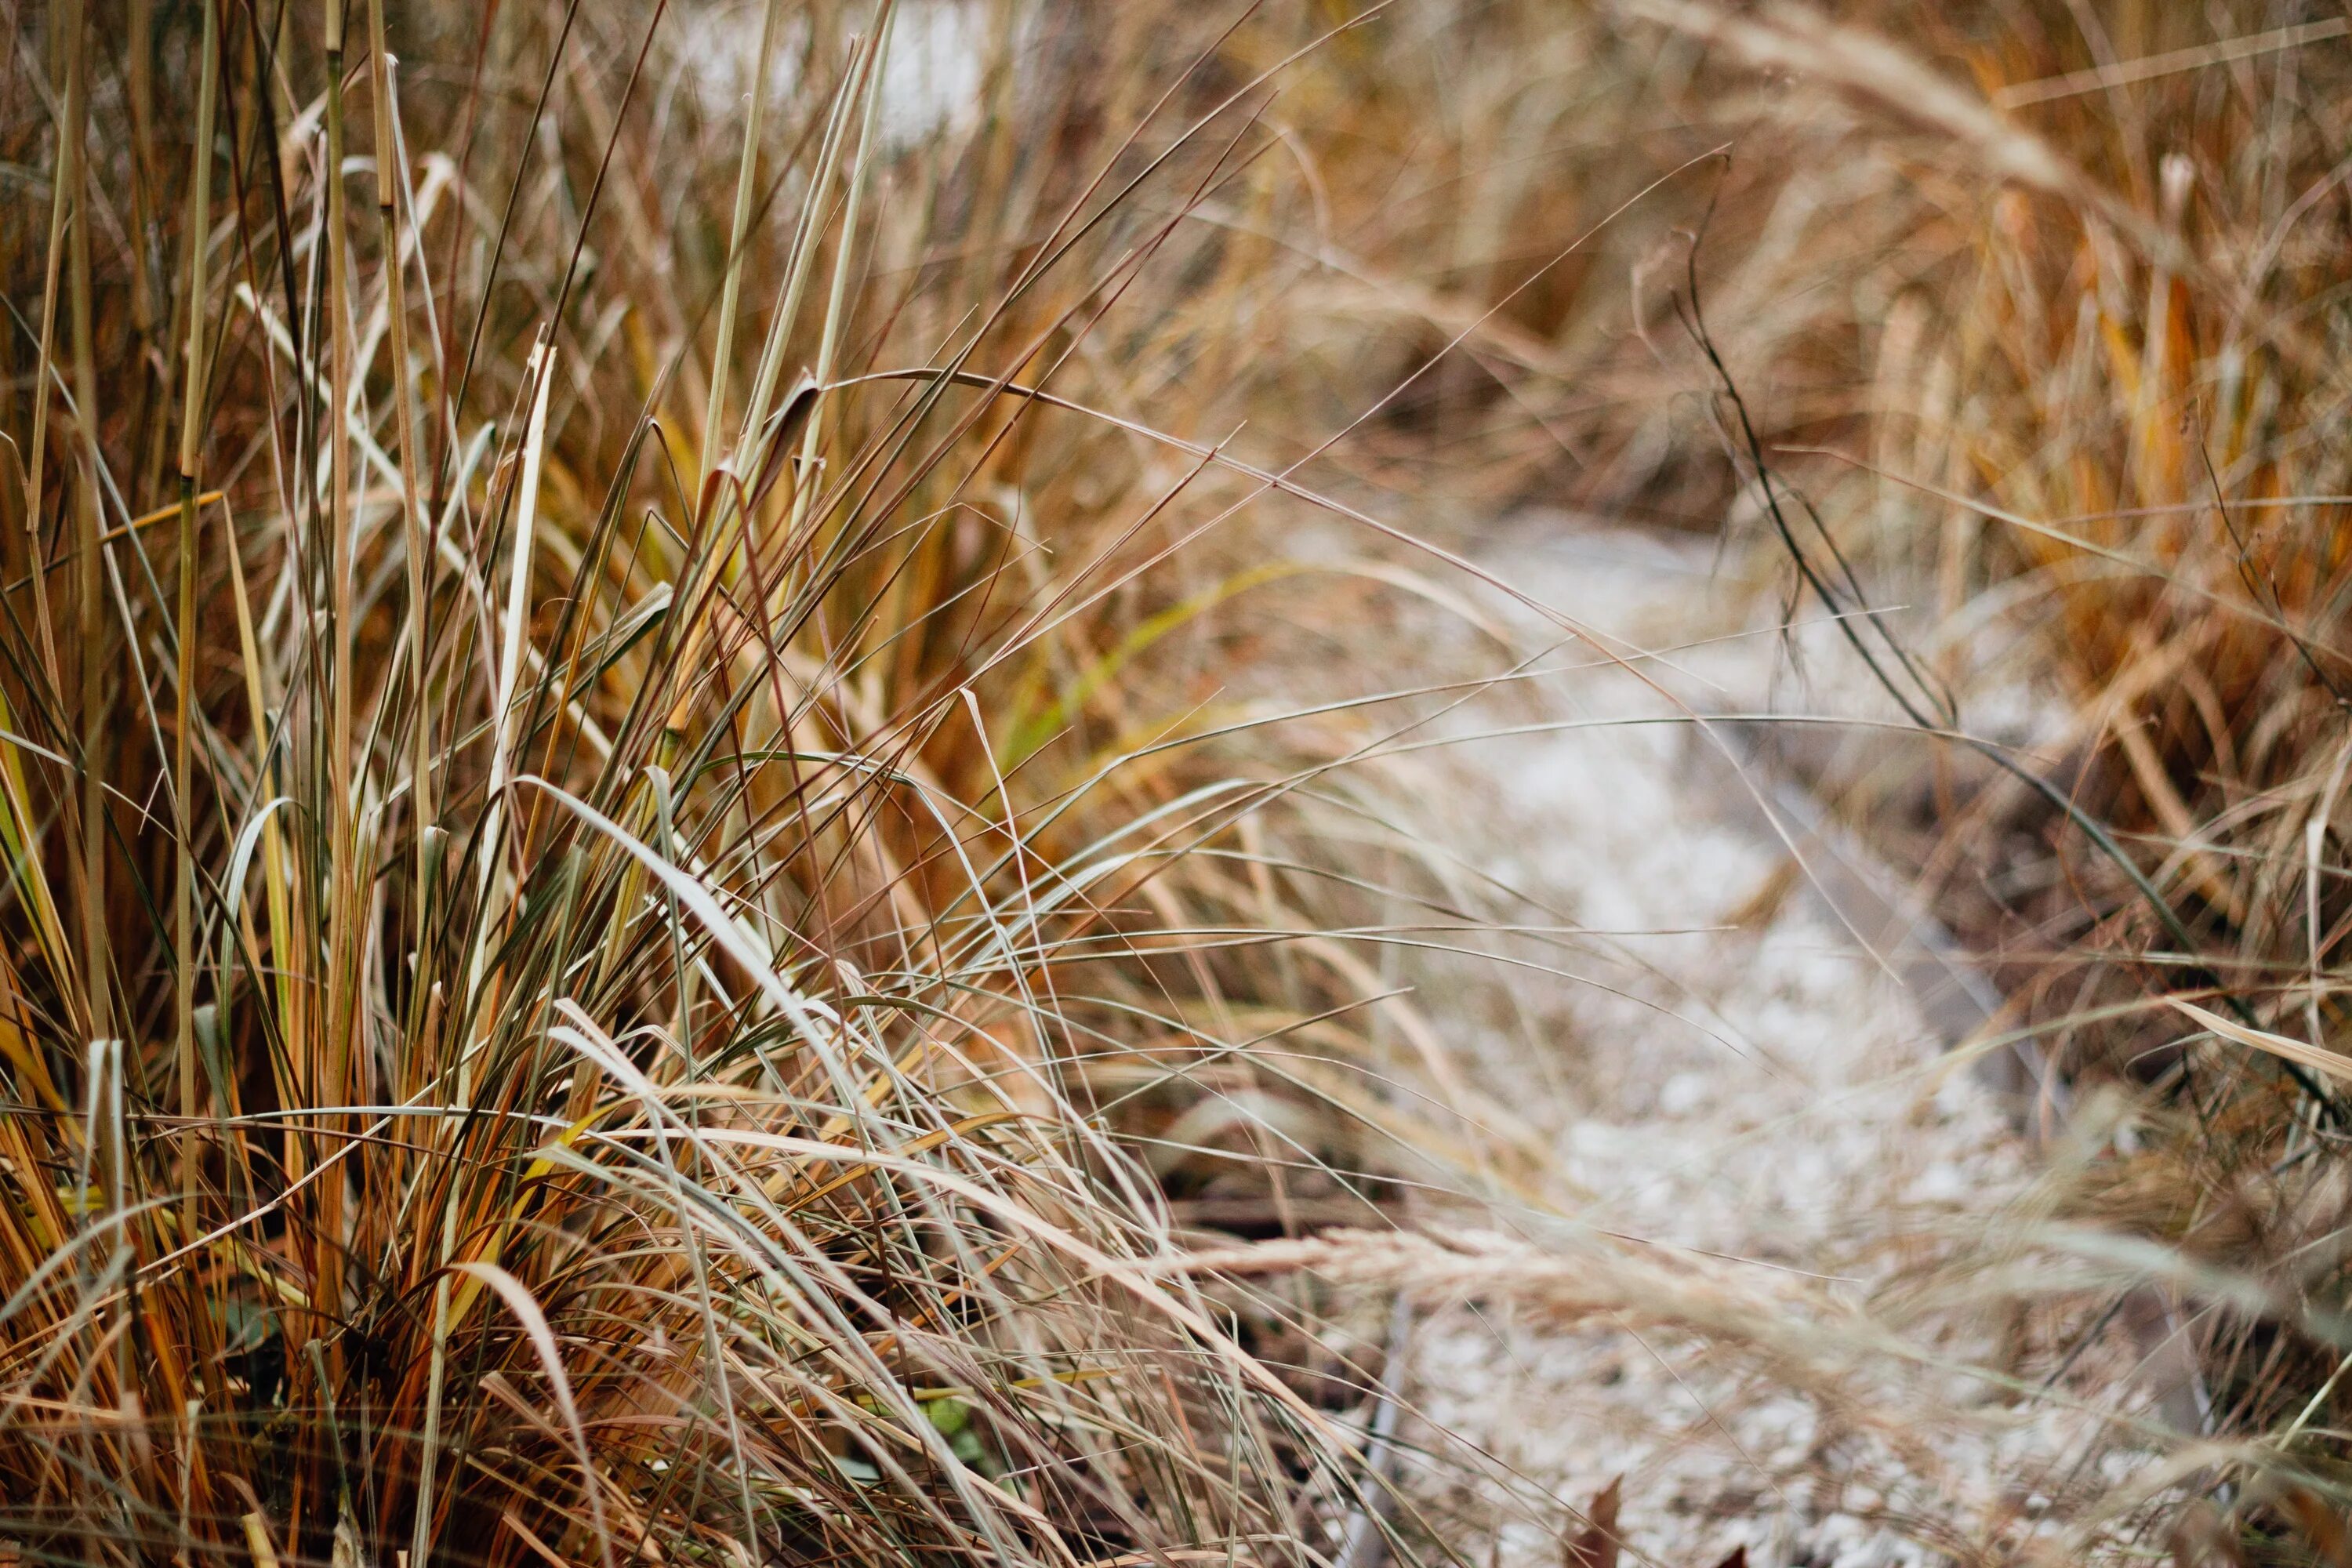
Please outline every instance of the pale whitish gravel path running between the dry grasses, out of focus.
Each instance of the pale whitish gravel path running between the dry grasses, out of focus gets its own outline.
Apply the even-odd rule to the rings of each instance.
[[[1644,672],[1691,705],[1879,712],[1842,675],[1830,628],[1797,637],[1809,677],[1792,679],[1790,649],[1703,541],[1531,522],[1489,541],[1482,564],[1661,654]],[[1522,630],[1541,623],[1522,616]],[[1621,1535],[1661,1563],[1740,1547],[1771,1566],[2079,1549],[2070,1530],[2136,1450],[2091,1415],[1957,1371],[2030,1375],[2034,1335],[2072,1333],[1959,1300],[1999,1265],[1992,1220],[2034,1213],[2044,1164],[1980,1072],[1938,1065],[1969,1001],[1922,983],[1915,947],[1865,947],[1851,898],[1842,917],[1809,884],[1705,736],[1639,722],[1675,717],[1658,689],[1595,668],[1590,649],[1548,663],[1583,668],[1515,698],[1522,733],[1451,752],[1477,809],[1442,832],[1592,936],[1562,959],[1573,978],[1519,985],[1522,1023],[1489,1030],[1470,1072],[1538,1140],[1581,1222],[1828,1276],[1830,1300],[1893,1324],[1917,1359],[1806,1389],[1722,1340],[1451,1302],[1411,1338],[1406,1396],[1423,1441],[1449,1429],[1508,1479],[1432,1467],[1418,1495],[1468,1530],[1472,1561],[1503,1568],[1559,1563],[1562,1505],[1618,1476]],[[1806,860],[1832,875],[1820,844]],[[1496,1225],[1548,1234],[1508,1208]],[[2131,1361],[2129,1342],[2077,1356],[2067,1387],[2140,1401]]]

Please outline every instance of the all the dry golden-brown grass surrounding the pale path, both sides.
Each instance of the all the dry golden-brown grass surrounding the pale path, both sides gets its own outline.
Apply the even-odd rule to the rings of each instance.
[[[1496,1175],[1315,933],[1470,924],[1322,788],[1388,710],[1232,682],[1451,604],[1301,529],[1385,489],[1778,498],[1922,717],[2063,710],[1820,778],[2136,1095],[2084,1211],[2201,1269],[2201,1479],[2319,1540],[2343,1133],[2263,1041],[2333,1051],[2352,922],[2352,42],[2209,12],[14,12],[0,1537],[1355,1568],[1362,1342],[1185,1260],[1893,1354],[1228,1246]]]

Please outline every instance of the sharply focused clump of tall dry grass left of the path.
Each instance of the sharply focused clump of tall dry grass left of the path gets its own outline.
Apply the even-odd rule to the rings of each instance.
[[[1329,1549],[1345,1432],[1120,1135],[1327,1009],[1192,936],[1272,792],[1129,682],[1249,487],[1084,411],[1188,414],[1256,82],[889,0],[111,21],[19,12],[0,110],[0,1540]]]

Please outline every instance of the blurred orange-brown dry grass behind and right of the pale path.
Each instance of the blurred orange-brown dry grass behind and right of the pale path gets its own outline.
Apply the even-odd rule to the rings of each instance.
[[[1797,552],[1795,604],[1898,607],[1849,618],[1856,646],[1987,745],[1790,762],[1919,870],[2079,1095],[2129,1098],[2072,1215],[2159,1244],[2201,1425],[2249,1443],[2194,1472],[2230,1530],[2326,1554],[2312,1507],[2352,1502],[2343,19],[1381,26],[1317,78],[1348,113],[1298,115],[1331,216],[1287,374],[1397,386],[1350,456],[1399,491],[1726,527]]]

